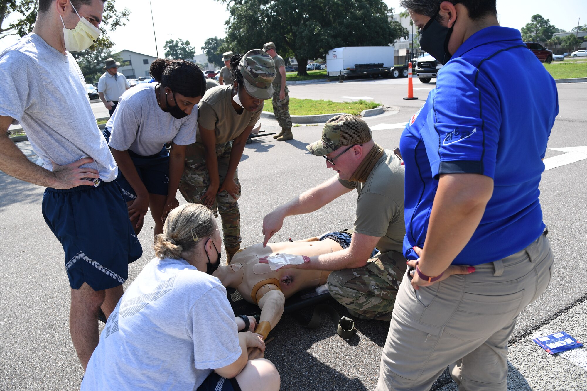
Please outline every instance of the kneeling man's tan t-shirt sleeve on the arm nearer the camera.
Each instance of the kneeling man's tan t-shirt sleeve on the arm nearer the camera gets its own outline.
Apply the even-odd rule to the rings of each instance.
[[[359,194],[353,231],[379,238],[385,236],[396,208],[397,204],[385,195],[376,193]]]

